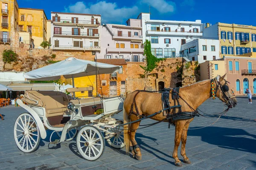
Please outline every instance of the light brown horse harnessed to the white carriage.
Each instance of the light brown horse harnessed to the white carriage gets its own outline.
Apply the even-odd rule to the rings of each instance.
[[[235,95],[233,94],[233,91],[230,88],[228,88],[227,81],[224,79],[225,76],[226,74],[223,77],[214,78],[214,87],[215,87],[215,90],[217,91],[215,95],[222,102],[225,102],[229,108],[233,108],[236,106],[237,100],[235,98]],[[130,121],[132,122],[140,119],[140,116],[137,116],[136,114],[133,114],[133,113],[131,114],[130,112],[131,108],[133,108],[132,110],[133,112],[139,113],[140,115],[144,115],[144,116],[152,115],[153,113],[156,113],[163,109],[160,93],[148,93],[143,91],[138,94],[137,93],[138,91],[134,91],[131,94],[128,94],[126,96],[126,99],[124,102],[124,123],[130,122]],[[135,102],[137,104],[137,111],[135,107],[131,107],[131,105],[133,104],[135,95],[136,95]],[[204,101],[206,101],[209,97],[212,96],[211,80],[204,80],[201,82],[197,82],[193,85],[182,87],[180,88],[179,95],[187,102],[186,103],[182,99],[179,99],[180,105],[182,106],[182,111],[192,112],[193,111],[192,108],[193,109],[198,108]],[[173,106],[174,101],[172,100],[171,95],[169,97],[169,101],[170,101],[170,106]],[[173,109],[171,110],[171,113],[173,113]],[[160,121],[165,119],[166,116],[164,116],[163,112],[161,112],[150,118]],[[175,141],[174,141],[175,147],[173,150],[172,157],[175,159],[176,166],[182,166],[181,161],[180,159],[178,159],[178,156],[177,156],[180,140],[181,140],[180,154],[184,158],[183,161],[186,164],[191,163],[189,158],[186,156],[185,145],[186,145],[186,139],[187,139],[187,129],[189,128],[189,123],[192,122],[192,120],[193,118],[175,121]],[[168,122],[168,120],[166,120],[165,122]],[[129,129],[124,131],[126,152],[128,153],[129,152],[128,150],[130,150],[133,156],[136,157],[138,160],[141,159],[141,152],[140,152],[140,147],[138,146],[135,140],[135,133],[139,125],[140,125],[140,122],[135,122],[130,125],[124,126],[124,129]]]

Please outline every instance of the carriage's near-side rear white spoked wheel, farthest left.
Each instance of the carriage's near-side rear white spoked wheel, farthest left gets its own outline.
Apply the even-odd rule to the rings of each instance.
[[[29,113],[22,113],[16,119],[14,139],[22,152],[31,153],[38,148],[40,133],[35,119]]]

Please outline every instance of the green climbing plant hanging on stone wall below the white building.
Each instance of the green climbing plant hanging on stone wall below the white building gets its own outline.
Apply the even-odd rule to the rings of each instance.
[[[140,65],[140,67],[143,68],[147,72],[153,71],[154,68],[157,67],[158,62],[165,60],[165,59],[162,59],[162,58],[158,59],[157,57],[152,55],[152,53],[151,53],[151,43],[148,40],[146,40],[146,42],[144,43],[144,54],[143,55],[146,56],[147,66],[143,67],[142,65]]]

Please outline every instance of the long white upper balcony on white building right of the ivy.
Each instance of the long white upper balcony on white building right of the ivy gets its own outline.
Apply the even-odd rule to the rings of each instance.
[[[148,35],[185,35],[185,36],[203,36],[203,31],[166,31],[166,30],[147,30]]]

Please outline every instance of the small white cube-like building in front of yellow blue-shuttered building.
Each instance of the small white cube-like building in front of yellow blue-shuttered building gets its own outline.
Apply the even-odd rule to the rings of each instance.
[[[219,59],[218,39],[193,39],[181,45],[181,54],[188,57],[190,61],[212,61]]]

